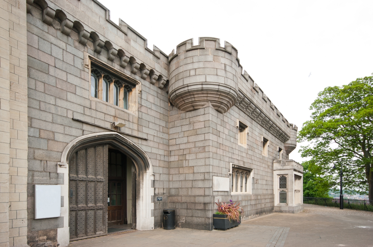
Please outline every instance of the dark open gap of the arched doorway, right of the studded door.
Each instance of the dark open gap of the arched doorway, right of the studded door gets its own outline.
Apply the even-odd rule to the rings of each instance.
[[[134,229],[135,166],[119,150],[109,146],[107,179],[107,233]]]

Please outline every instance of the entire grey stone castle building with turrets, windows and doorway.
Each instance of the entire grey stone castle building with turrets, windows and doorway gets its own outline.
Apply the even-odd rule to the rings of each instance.
[[[297,127],[217,38],[168,56],[97,0],[0,0],[0,246],[303,208]]]

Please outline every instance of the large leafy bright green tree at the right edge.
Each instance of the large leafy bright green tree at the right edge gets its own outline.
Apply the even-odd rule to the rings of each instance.
[[[310,157],[307,169],[337,189],[342,166],[344,188],[373,200],[373,76],[325,88],[310,109],[298,133],[298,141],[311,143],[300,150]]]

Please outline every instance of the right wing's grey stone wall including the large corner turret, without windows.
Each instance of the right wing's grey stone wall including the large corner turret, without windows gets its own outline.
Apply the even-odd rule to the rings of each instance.
[[[237,54],[228,42],[220,47],[219,39],[202,37],[198,45],[182,42],[169,55],[174,105],[169,206],[176,207],[180,227],[211,230],[218,201],[241,203],[243,219],[273,211],[273,160],[286,141],[294,145],[296,129],[251,77],[242,74]],[[246,145],[238,143],[238,121],[247,126]],[[266,156],[263,137],[269,140]],[[231,163],[253,169],[251,194],[213,191],[213,176],[232,179]]]

